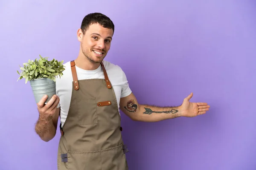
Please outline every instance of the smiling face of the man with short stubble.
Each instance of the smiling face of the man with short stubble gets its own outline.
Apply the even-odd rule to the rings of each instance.
[[[81,32],[81,30],[80,30]],[[113,30],[101,25],[90,25],[85,34],[80,34],[81,50],[87,59],[100,63],[110,49]]]

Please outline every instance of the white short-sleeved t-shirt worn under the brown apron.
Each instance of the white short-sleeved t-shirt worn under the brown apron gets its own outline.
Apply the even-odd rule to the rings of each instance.
[[[103,64],[108,74],[108,79],[111,82],[113,90],[116,94],[116,101],[119,108],[119,102],[121,97],[126,97],[131,94],[127,78],[125,73],[118,65],[114,65],[110,62],[103,60]],[[70,61],[64,64],[65,70],[63,76],[56,78],[56,94],[60,98],[58,107],[60,108],[61,126],[67,118],[67,113],[70,107],[70,100],[72,94],[72,72],[70,67]],[[77,79],[105,79],[101,65],[96,70],[83,70],[76,66]],[[119,113],[120,114],[120,113]]]

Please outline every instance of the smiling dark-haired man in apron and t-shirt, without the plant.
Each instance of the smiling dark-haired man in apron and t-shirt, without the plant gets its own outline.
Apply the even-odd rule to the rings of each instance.
[[[156,122],[180,116],[193,117],[209,110],[207,103],[189,102],[178,107],[140,105],[122,69],[103,60],[114,33],[114,24],[103,14],[84,17],[77,31],[78,57],[64,65],[56,80],[56,93],[44,105],[38,102],[35,130],[44,141],[56,133],[60,116],[58,170],[127,170],[119,108],[134,121]],[[58,105],[59,103],[59,105]]]

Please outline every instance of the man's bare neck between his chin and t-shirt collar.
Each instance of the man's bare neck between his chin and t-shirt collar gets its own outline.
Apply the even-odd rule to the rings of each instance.
[[[94,63],[91,62],[87,57],[84,56],[84,54],[78,55],[78,57],[75,59],[75,64],[77,67],[83,69],[83,70],[96,70],[99,68],[100,63]]]

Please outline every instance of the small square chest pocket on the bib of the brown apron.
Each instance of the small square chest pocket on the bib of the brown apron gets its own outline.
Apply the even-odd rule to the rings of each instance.
[[[79,125],[93,125],[98,123],[97,104],[95,97],[79,101]]]

